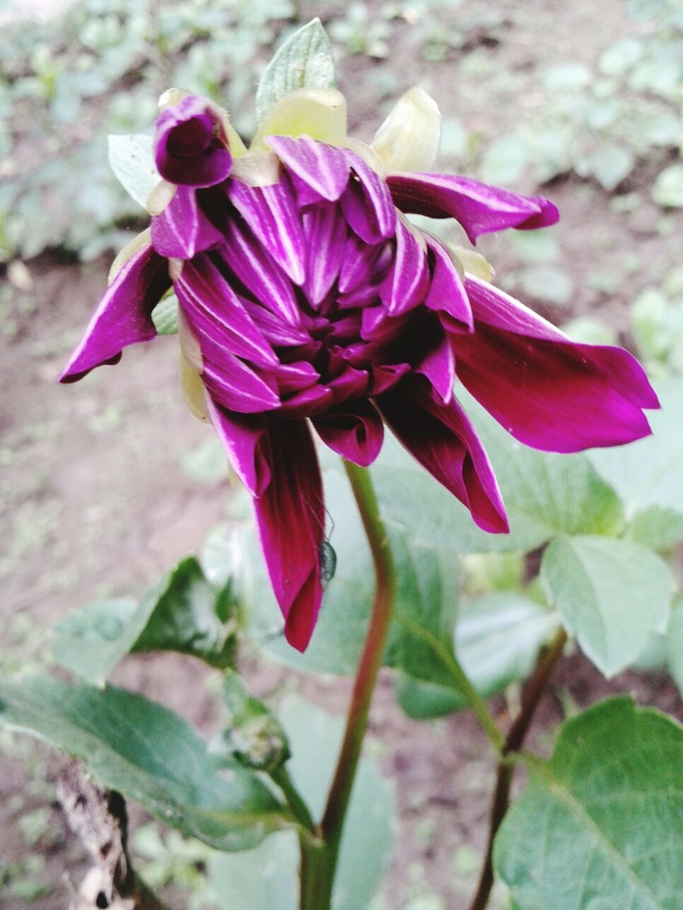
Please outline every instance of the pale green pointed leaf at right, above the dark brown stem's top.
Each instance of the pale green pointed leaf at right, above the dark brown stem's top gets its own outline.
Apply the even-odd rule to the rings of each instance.
[[[548,600],[586,655],[611,676],[667,628],[674,580],[651,550],[600,537],[558,538],[545,551]]]

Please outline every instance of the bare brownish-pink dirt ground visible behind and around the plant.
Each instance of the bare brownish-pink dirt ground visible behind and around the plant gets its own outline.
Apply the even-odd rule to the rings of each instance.
[[[592,65],[607,43],[632,28],[617,0],[600,5],[599,28],[590,0],[562,5],[555,0],[505,0],[488,6],[505,12],[505,39],[485,46],[502,70],[540,69],[565,58]],[[402,59],[401,47],[395,51]],[[401,87],[403,81],[405,87],[415,81],[416,67],[424,66],[406,64]],[[371,69],[363,58],[360,76]],[[457,114],[468,124],[494,121],[501,129],[509,126],[515,109],[505,96],[492,95],[476,83],[454,86],[447,66],[427,69],[433,95],[446,114]],[[353,59],[343,61],[342,75],[347,86],[353,79],[350,106],[361,112],[362,122],[355,126],[367,135],[380,116],[376,97],[365,96]],[[647,187],[658,167],[660,161],[638,167],[619,191]],[[575,294],[561,313],[544,308],[541,300],[528,302],[556,321],[599,313],[624,330],[628,300],[678,264],[683,219],[671,216],[674,229],[662,236],[654,203],[645,201],[629,216],[618,214],[609,207],[609,194],[576,177],[556,180],[544,192],[562,212],[562,263],[571,271]],[[503,239],[489,238],[482,246],[499,274],[515,267]],[[633,252],[647,268],[615,291],[606,294],[586,280],[596,270],[617,268]],[[225,481],[201,482],[187,470],[188,454],[209,440],[210,430],[192,418],[178,393],[176,339],[128,349],[116,368],[99,369],[77,386],[56,384],[105,287],[108,262],[78,266],[45,255],[27,266],[31,288],[25,293],[32,301],[31,312],[15,338],[4,342],[0,359],[3,672],[36,667],[45,652],[47,630],[75,606],[103,596],[135,596],[178,558],[197,551],[224,517],[230,495]],[[286,675],[280,668],[250,669],[252,682],[263,693]],[[199,663],[189,659],[144,656],[128,658],[115,680],[168,704],[209,733],[214,717],[205,676]],[[342,712],[349,685],[301,678],[301,690]],[[683,716],[678,693],[667,679],[626,673],[607,684],[578,652],[563,662],[554,691],[559,697],[547,698],[533,733],[536,743],[545,747],[567,694],[586,705],[607,693],[635,691],[642,702]],[[505,718],[505,700],[498,700],[495,709]],[[415,910],[464,910],[484,844],[492,785],[483,735],[467,713],[432,724],[406,720],[393,703],[389,674],[382,677],[371,730],[381,743],[382,766],[396,783],[400,807],[383,889],[386,906],[403,907],[421,897],[423,904],[415,900]],[[49,881],[53,890],[30,904],[0,895],[0,907],[62,910],[68,903],[64,873],[77,882],[87,865],[79,844],[51,807],[54,760],[33,747],[28,754],[18,746],[13,749],[6,750],[5,759],[0,755],[0,857],[8,864],[22,860],[29,849],[44,854],[46,867],[37,877]],[[30,785],[25,797],[17,799],[26,781]],[[29,847],[21,819],[40,808],[49,817],[45,831],[38,832]],[[139,821],[139,814],[134,820]],[[184,905],[178,893],[168,900],[178,910]]]

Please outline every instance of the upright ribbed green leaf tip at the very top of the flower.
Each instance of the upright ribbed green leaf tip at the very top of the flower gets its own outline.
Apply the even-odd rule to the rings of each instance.
[[[319,18],[294,32],[273,56],[256,90],[259,122],[270,108],[297,88],[336,88],[330,39]]]

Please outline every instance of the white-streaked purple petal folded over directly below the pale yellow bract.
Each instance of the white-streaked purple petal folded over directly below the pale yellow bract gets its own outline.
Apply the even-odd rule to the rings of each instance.
[[[303,187],[298,187],[300,205],[311,205],[327,199],[336,202],[349,182],[350,164],[342,148],[328,146],[309,136],[268,136],[266,145]],[[308,187],[307,193],[304,187]]]

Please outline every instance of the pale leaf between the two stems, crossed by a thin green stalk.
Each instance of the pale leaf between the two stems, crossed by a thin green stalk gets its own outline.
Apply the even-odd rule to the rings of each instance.
[[[455,651],[474,687],[488,697],[526,678],[556,627],[556,613],[520,594],[485,594],[461,609]],[[397,683],[397,696],[405,713],[422,719],[466,707],[452,688],[408,677]]]

